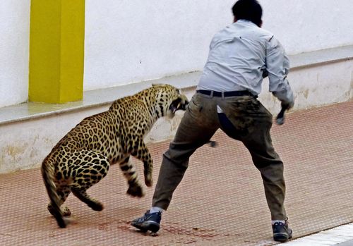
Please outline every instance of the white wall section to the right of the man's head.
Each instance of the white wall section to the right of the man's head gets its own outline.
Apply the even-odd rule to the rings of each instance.
[[[289,54],[353,44],[352,0],[261,0],[263,27]]]

